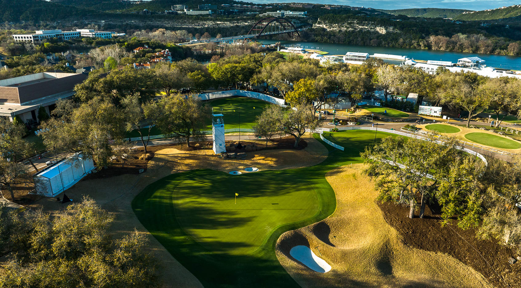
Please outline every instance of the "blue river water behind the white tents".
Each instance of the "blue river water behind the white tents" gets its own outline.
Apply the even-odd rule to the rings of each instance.
[[[332,44],[319,42],[303,42],[303,41],[277,41],[277,40],[257,40],[263,44],[274,44],[280,42],[287,47],[302,47],[308,49],[318,49],[329,52],[328,55],[345,55],[347,52],[364,52],[373,55],[374,53],[405,55],[409,58],[417,60],[442,60],[457,62],[457,59],[477,56],[485,61],[487,66],[503,69],[521,70],[521,56],[507,56],[507,55],[492,55],[479,53],[460,53],[451,51],[438,51],[427,49],[405,49],[405,48],[391,48],[391,47],[376,47],[376,46],[359,46],[346,44]]]

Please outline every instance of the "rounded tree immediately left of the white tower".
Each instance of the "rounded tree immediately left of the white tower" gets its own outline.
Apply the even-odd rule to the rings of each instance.
[[[190,147],[190,138],[205,139],[202,129],[212,110],[197,95],[170,95],[157,103],[157,127],[175,139],[184,139]]]

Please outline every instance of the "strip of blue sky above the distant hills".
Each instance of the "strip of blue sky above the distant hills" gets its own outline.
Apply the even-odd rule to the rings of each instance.
[[[453,8],[467,10],[486,10],[503,6],[512,6],[521,4],[520,1],[512,0],[366,0],[366,1],[346,1],[346,0],[318,0],[318,1],[274,1],[274,0],[243,0],[254,3],[318,3],[318,4],[338,4],[350,6],[364,6],[375,9],[406,9],[406,8]]]

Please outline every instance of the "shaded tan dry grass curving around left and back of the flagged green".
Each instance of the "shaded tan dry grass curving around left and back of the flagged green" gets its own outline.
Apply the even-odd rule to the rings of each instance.
[[[202,287],[199,280],[173,258],[165,247],[142,226],[132,210],[132,199],[147,185],[171,173],[203,168],[230,171],[252,166],[259,169],[289,169],[316,165],[327,158],[326,147],[311,136],[306,136],[305,140],[308,146],[302,150],[257,151],[249,153],[246,160],[221,160],[213,155],[211,150],[162,149],[154,153],[155,156],[148,162],[148,169],[144,173],[80,181],[67,190],[66,194],[74,201],[89,196],[104,209],[113,212],[116,220],[111,230],[116,237],[126,235],[134,231],[134,228],[146,234],[151,242],[150,252],[161,267],[158,274],[164,287]],[[66,206],[67,204],[56,202],[55,198],[45,197],[31,205],[31,208],[42,208],[44,211],[53,213]]]

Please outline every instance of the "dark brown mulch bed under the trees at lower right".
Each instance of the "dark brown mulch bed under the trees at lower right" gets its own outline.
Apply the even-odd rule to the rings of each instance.
[[[402,235],[405,245],[451,255],[480,272],[494,286],[521,287],[521,261],[508,264],[508,259],[518,256],[514,249],[494,240],[478,239],[475,230],[462,230],[455,221],[442,227],[436,204],[427,206],[424,219],[408,218],[408,207],[379,201],[377,205],[387,223]]]

